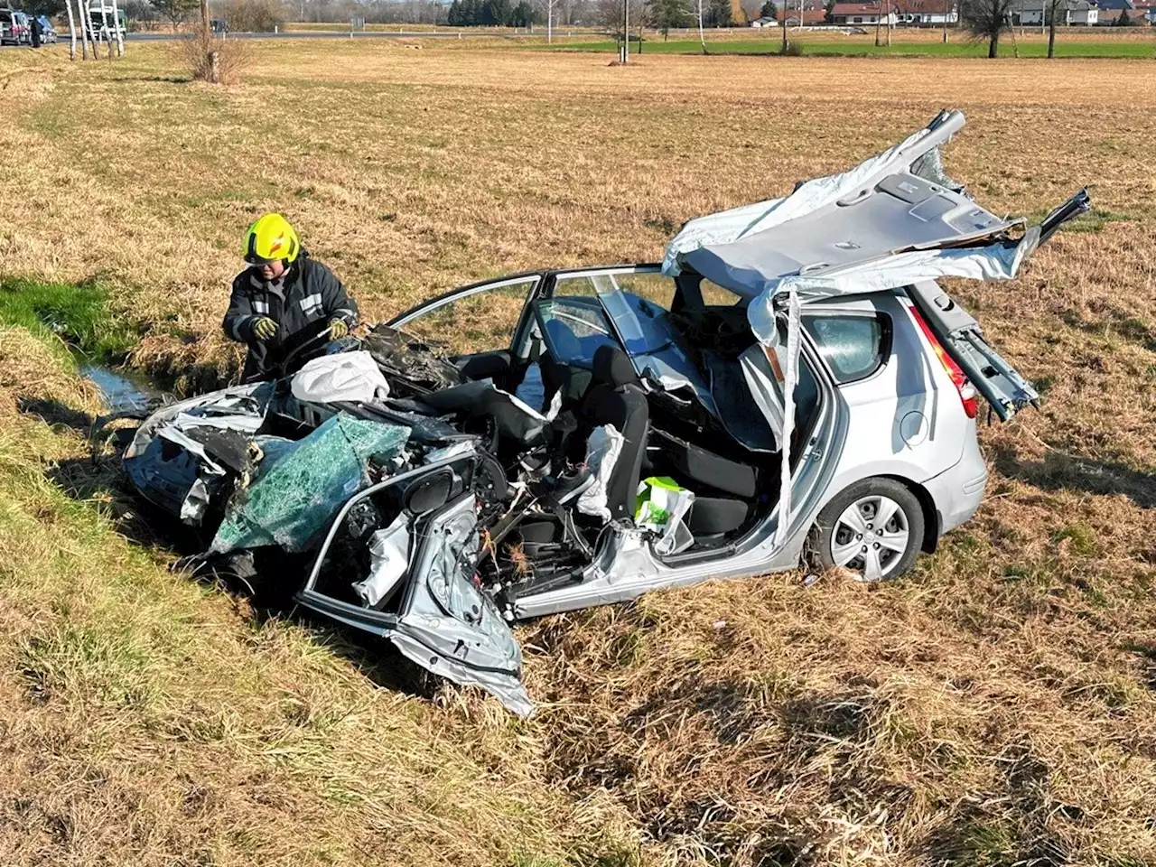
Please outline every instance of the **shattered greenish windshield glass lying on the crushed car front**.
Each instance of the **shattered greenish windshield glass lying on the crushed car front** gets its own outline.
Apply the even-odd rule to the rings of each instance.
[[[304,439],[267,449],[255,479],[229,501],[210,550],[307,550],[346,501],[371,483],[370,459],[384,464],[408,438],[409,428],[339,414]]]

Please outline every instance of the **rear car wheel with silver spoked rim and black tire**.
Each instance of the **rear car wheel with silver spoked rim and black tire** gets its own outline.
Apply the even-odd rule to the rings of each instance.
[[[925,528],[924,509],[910,488],[894,479],[864,479],[823,506],[808,539],[809,558],[823,571],[845,568],[862,581],[890,580],[914,564]]]

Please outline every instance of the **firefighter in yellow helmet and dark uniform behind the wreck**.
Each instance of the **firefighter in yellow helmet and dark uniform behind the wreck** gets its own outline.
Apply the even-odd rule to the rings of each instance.
[[[269,379],[289,351],[338,340],[357,325],[357,304],[333,272],[301,246],[281,214],[266,214],[245,235],[249,267],[232,281],[224,333],[249,346],[242,381]],[[303,358],[304,361],[304,358]]]

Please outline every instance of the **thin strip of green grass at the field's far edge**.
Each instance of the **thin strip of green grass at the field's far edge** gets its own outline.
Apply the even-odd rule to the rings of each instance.
[[[808,42],[806,38],[792,38],[792,45],[799,45],[801,53],[817,57],[987,57],[986,42],[971,42],[962,36],[954,37],[956,42],[892,42],[891,45],[875,45],[873,42],[852,39],[822,39]],[[555,45],[536,46],[550,51],[592,51],[610,52],[618,50],[612,39],[592,39],[590,42],[564,42]],[[631,43],[631,57],[637,55],[637,43]],[[781,40],[776,37],[762,39],[733,39],[725,42],[706,40],[707,54],[779,54]],[[1024,42],[1018,46],[1020,57],[1047,57],[1047,44],[1044,42]],[[1011,39],[1000,42],[1000,57],[1010,58],[1015,52]],[[702,54],[703,46],[694,39],[646,39],[643,42],[643,57],[646,54]],[[792,52],[788,52],[792,53]],[[1156,57],[1156,46],[1144,40],[1103,39],[1079,42],[1057,40],[1058,58],[1151,58]]]

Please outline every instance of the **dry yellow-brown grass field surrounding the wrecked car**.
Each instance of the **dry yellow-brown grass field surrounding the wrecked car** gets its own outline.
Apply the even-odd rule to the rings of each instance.
[[[67,356],[0,331],[6,864],[1156,862],[1156,89],[1144,61],[253,46],[0,54],[0,309],[105,289],[128,361],[220,381],[246,224],[281,209],[385,317],[543,265],[654,260],[966,111],[994,210],[1096,212],[961,287],[1044,392],[911,576],[707,584],[526,624],[527,722],[166,570]],[[23,283],[27,287],[31,283]],[[81,432],[79,432],[81,431]],[[384,660],[384,661],[380,661]]]

